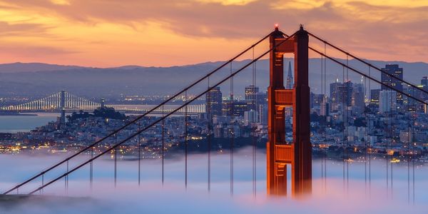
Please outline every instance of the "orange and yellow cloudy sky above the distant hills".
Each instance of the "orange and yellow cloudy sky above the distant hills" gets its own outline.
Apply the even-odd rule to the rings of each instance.
[[[180,66],[305,29],[357,56],[428,62],[428,1],[0,0],[0,63]]]

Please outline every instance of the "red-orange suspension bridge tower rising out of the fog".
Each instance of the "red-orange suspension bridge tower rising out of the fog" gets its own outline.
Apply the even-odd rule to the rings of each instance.
[[[299,31],[285,41],[275,26],[270,35],[270,85],[268,98],[267,194],[287,194],[287,165],[291,166],[291,193],[312,192],[312,145],[310,143],[310,88],[308,82],[307,31]],[[275,47],[275,48],[274,48]],[[295,81],[292,89],[284,87],[286,53],[294,54]],[[292,107],[292,143],[285,141],[285,108]]]

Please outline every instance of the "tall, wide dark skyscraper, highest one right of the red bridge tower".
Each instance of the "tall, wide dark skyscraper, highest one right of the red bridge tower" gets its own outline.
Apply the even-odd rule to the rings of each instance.
[[[396,78],[399,78],[400,80],[403,79],[403,68],[399,68],[397,64],[389,64],[386,65],[384,68],[382,68],[382,71],[385,71],[386,73],[389,73],[391,76],[388,76],[387,74],[382,73],[381,81],[382,83],[386,84],[387,86],[390,86],[394,89],[397,89],[398,91],[403,91],[403,83],[402,81],[397,80]],[[392,78],[392,76],[396,78]],[[392,90],[391,88],[388,88],[387,86],[381,87],[383,90]],[[402,104],[403,103],[403,95],[402,93],[397,93],[397,103]]]

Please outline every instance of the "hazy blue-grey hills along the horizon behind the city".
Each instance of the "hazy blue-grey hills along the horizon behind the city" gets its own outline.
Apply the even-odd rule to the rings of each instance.
[[[233,62],[233,70],[240,68],[250,60]],[[285,58],[285,69],[292,58]],[[340,59],[345,62],[345,60]],[[44,63],[10,63],[0,64],[0,98],[5,96],[46,96],[62,89],[88,98],[118,97],[125,95],[168,95],[179,91],[209,71],[217,68],[223,62],[206,62],[187,66],[143,67],[121,66],[116,68],[88,68],[81,66],[60,66]],[[355,60],[349,61],[350,66],[360,71],[368,72],[368,67]],[[402,61],[370,61],[384,67],[387,63],[397,63],[404,68],[404,79],[419,84],[422,76],[428,76],[428,63],[407,63]],[[310,58],[311,91],[320,93],[321,62],[320,58]],[[265,91],[269,81],[269,62],[261,60],[257,63],[257,85],[260,91]],[[234,78],[235,94],[242,95],[244,87],[252,83],[251,66]],[[287,71],[285,71],[287,72]],[[226,66],[220,73],[210,78],[210,85],[230,73]],[[342,81],[342,66],[327,61],[327,84],[338,78]],[[345,70],[346,73],[346,70]],[[380,79],[380,74],[374,69],[372,76]],[[286,75],[285,75],[286,76]],[[349,78],[360,82],[361,76],[349,71]],[[345,74],[346,78],[346,74]],[[223,93],[228,93],[229,81],[220,85]],[[368,83],[368,81],[367,81]],[[206,88],[207,82],[198,85]],[[379,88],[372,83],[371,88]],[[329,86],[327,85],[327,91]],[[189,91],[194,94],[198,91]]]

